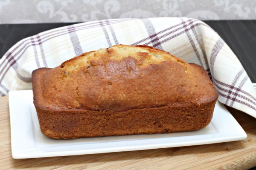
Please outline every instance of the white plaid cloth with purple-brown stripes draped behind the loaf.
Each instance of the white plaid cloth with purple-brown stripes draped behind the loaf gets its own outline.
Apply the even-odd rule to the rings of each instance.
[[[20,40],[0,60],[0,95],[32,89],[31,73],[84,52],[144,44],[204,67],[218,100],[256,118],[256,91],[227,44],[207,24],[185,17],[112,19],[79,23]]]

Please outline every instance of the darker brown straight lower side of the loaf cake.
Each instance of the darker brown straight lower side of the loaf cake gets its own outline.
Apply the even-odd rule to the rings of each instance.
[[[36,107],[41,132],[54,139],[173,133],[206,127],[217,100],[188,107],[134,109],[123,112],[42,110]]]

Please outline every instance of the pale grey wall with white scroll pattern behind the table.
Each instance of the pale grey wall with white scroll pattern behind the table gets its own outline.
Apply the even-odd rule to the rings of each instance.
[[[256,0],[0,0],[0,23],[83,22],[127,17],[256,19]]]

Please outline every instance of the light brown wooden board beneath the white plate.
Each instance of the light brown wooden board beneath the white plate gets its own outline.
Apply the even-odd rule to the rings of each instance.
[[[102,153],[80,156],[13,159],[8,97],[0,98],[0,169],[249,169],[256,166],[256,119],[228,108],[248,138],[243,141]],[[228,124],[228,122],[227,122]],[[22,140],[22,139],[21,139]]]

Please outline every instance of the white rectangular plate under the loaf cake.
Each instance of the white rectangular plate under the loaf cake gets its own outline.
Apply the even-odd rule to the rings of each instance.
[[[70,140],[55,140],[41,133],[33,104],[32,90],[9,92],[9,110],[13,158],[146,150],[238,141],[247,138],[246,133],[235,118],[219,102],[215,106],[211,123],[201,130]]]

